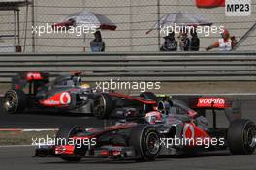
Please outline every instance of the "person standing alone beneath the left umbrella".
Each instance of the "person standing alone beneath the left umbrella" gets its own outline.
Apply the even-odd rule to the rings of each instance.
[[[101,32],[96,31],[94,33],[95,38],[90,42],[92,52],[104,52],[105,42],[102,40]]]

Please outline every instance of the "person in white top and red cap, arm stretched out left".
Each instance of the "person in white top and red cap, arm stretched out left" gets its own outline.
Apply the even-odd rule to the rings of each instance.
[[[221,33],[221,38],[218,40],[218,42],[215,42],[211,45],[209,45],[206,50],[210,50],[213,48],[219,48],[221,51],[231,51],[233,46],[237,43],[237,40],[235,36],[230,36],[230,33],[228,30],[224,30]]]

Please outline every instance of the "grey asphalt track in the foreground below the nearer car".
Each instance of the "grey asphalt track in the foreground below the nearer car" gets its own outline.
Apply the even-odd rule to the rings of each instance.
[[[33,147],[0,148],[1,170],[255,170],[256,154],[233,156],[229,152],[206,153],[197,156],[160,157],[153,162],[83,159],[67,163],[59,158],[33,158]]]

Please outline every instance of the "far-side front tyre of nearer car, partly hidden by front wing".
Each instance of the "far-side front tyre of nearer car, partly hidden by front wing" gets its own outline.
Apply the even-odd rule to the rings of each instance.
[[[84,128],[81,126],[65,126],[62,128],[59,128],[57,134],[56,134],[56,144],[55,145],[67,145],[67,142],[70,140],[70,138],[74,136],[80,136],[80,134],[83,134]],[[66,143],[58,143],[58,141],[64,141]],[[76,146],[75,146],[76,147]],[[80,147],[79,150],[75,149],[76,156],[62,156],[61,159],[68,161],[68,162],[78,162],[81,159],[81,156],[84,156],[86,154],[86,148]]]

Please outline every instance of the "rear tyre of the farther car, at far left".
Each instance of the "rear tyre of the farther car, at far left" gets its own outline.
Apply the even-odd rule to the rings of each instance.
[[[7,91],[3,100],[2,106],[6,113],[16,114],[23,112],[26,108],[27,99],[26,95],[21,90],[11,89]]]

